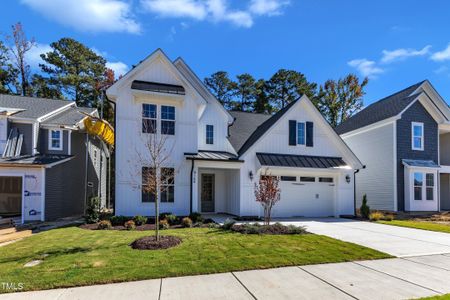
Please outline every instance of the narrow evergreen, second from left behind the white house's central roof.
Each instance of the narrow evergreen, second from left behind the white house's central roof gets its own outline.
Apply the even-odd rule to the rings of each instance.
[[[238,75],[236,78],[237,82],[233,85],[233,95],[236,97],[233,110],[249,111],[256,96],[255,79],[248,73]],[[239,101],[237,101],[237,98],[239,98]]]

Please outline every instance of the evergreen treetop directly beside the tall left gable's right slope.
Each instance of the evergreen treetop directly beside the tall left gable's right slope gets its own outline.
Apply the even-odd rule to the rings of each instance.
[[[219,100],[226,109],[233,108],[233,89],[235,83],[228,77],[228,73],[218,71],[204,79],[205,85],[210,92]]]

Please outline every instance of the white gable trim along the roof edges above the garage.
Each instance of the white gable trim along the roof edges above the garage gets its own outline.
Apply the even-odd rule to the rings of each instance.
[[[312,104],[311,100],[306,95],[303,95],[297,102],[289,108],[289,110],[294,109],[304,102],[309,108],[309,112],[312,117],[318,122],[317,125],[324,127],[325,131],[328,131],[330,141],[336,146],[338,151],[342,154],[342,157],[346,163],[348,163],[353,169],[361,169],[363,164],[359,161],[356,155],[350,150],[347,144],[341,139],[341,137],[334,131],[330,124],[325,120],[322,114],[317,110],[317,108]],[[286,112],[287,113],[287,112]],[[245,156],[247,153],[251,152],[267,135],[275,128],[280,122],[286,121],[286,113],[279,120],[277,120],[272,126],[241,156]]]

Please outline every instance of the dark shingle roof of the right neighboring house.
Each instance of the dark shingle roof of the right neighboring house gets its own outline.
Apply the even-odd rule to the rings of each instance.
[[[343,122],[335,128],[338,134],[344,134],[349,131],[388,119],[398,115],[413,101],[417,95],[410,96],[425,81],[416,83],[404,90],[383,98],[364,108],[362,111]]]

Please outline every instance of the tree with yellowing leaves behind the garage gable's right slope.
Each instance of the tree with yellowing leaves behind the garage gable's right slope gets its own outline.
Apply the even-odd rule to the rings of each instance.
[[[327,80],[320,86],[316,106],[331,126],[336,127],[362,109],[368,82],[367,78],[360,81],[356,75],[349,74],[337,81]]]

